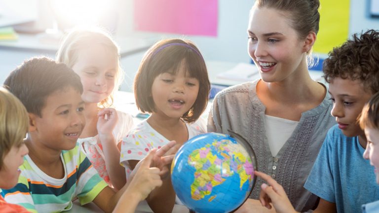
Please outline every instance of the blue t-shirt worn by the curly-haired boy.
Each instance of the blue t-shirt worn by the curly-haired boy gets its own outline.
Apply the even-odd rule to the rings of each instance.
[[[358,137],[346,137],[333,126],[326,135],[304,188],[335,203],[338,213],[359,213],[379,200],[374,168],[363,158]]]

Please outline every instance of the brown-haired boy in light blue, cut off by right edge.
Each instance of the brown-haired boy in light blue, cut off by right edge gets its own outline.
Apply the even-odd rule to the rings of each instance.
[[[367,139],[366,150],[363,153],[365,159],[370,160],[374,166],[377,183],[379,184],[379,93],[376,93],[362,110],[359,124],[365,130]],[[379,201],[362,206],[362,213],[378,213]]]

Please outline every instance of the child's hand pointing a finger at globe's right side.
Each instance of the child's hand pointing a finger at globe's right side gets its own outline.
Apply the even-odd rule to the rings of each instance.
[[[254,172],[255,175],[264,179],[268,184],[263,183],[261,186],[261,194],[259,200],[262,206],[267,209],[271,209],[270,203],[274,206],[277,213],[296,213],[294,207],[292,206],[290,200],[287,197],[286,192],[283,187],[277,183],[270,176],[261,172]]]

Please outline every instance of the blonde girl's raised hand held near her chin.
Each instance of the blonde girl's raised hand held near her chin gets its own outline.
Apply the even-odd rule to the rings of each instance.
[[[114,127],[117,124],[117,111],[114,108],[104,108],[97,114],[97,132],[99,136],[112,134]]]

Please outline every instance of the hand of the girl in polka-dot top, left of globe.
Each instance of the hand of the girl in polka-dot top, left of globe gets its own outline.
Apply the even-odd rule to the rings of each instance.
[[[160,176],[165,178],[166,173],[169,171],[169,166],[175,157],[175,153],[178,151],[179,146],[175,141],[168,142],[166,145],[160,147],[152,160],[152,167],[160,169]]]

